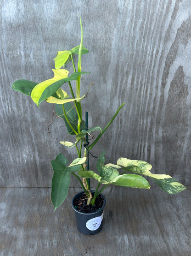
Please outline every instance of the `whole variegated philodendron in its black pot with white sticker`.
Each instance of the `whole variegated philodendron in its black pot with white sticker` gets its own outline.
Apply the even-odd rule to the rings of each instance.
[[[175,194],[185,190],[185,186],[166,174],[154,174],[150,170],[152,166],[139,160],[129,160],[127,158],[119,158],[117,164],[105,164],[105,151],[101,152],[96,163],[96,171],[89,170],[89,153],[91,149],[99,141],[103,133],[111,125],[124,103],[118,107],[116,113],[101,129],[99,126],[88,128],[88,115],[86,112],[86,120],[83,120],[83,110],[81,102],[85,95],[80,94],[81,76],[88,72],[83,72],[81,60],[83,54],[88,54],[88,50],[83,46],[83,27],[81,25],[81,42],[79,46],[71,50],[59,51],[55,60],[54,77],[41,83],[35,83],[28,80],[17,80],[12,84],[12,89],[17,90],[25,95],[31,96],[32,100],[39,106],[40,102],[46,101],[54,103],[56,113],[61,117],[67,127],[68,135],[75,137],[75,143],[62,141],[60,142],[66,147],[75,148],[77,158],[72,163],[67,164],[67,158],[61,154],[51,161],[53,167],[53,178],[51,187],[51,202],[54,210],[59,207],[67,197],[70,185],[70,176],[74,175],[82,187],[81,193],[74,196],[72,206],[76,213],[77,226],[80,232],[84,234],[95,234],[99,232],[102,226],[103,208],[105,198],[101,194],[108,185],[118,185],[124,187],[134,187],[141,189],[149,189],[150,185],[143,176],[148,176],[159,185],[163,191],[169,194]],[[75,65],[74,55],[78,55],[78,65]],[[73,73],[68,76],[69,71],[65,69],[67,63],[71,61],[73,64]],[[72,85],[72,81],[75,84]],[[61,89],[63,84],[67,83],[71,97],[65,89]],[[75,91],[73,90],[75,86]],[[66,88],[66,85],[65,85]],[[89,136],[93,131],[98,130],[100,133],[89,143]],[[143,175],[143,176],[142,176]],[[90,179],[97,180],[95,191],[90,190]],[[102,186],[100,187],[100,185]],[[78,224],[79,219],[79,224]]]

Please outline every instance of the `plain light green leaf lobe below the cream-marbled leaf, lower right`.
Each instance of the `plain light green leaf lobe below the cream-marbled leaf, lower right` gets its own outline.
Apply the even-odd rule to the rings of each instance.
[[[150,189],[148,181],[142,176],[136,174],[119,175],[113,179],[111,183],[123,187]]]

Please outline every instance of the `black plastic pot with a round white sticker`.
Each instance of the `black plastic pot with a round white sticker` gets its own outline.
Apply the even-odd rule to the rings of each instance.
[[[92,193],[94,193],[94,191],[91,191]],[[100,232],[102,226],[103,226],[103,208],[106,204],[106,199],[105,197],[100,194],[103,197],[103,206],[96,212],[94,213],[83,213],[83,212],[79,212],[74,204],[73,201],[74,199],[79,196],[79,195],[83,195],[84,191],[79,192],[78,194],[76,194],[73,197],[72,200],[72,208],[75,211],[75,216],[76,216],[76,224],[78,227],[79,232],[81,232],[82,234],[85,235],[94,235],[98,232]]]

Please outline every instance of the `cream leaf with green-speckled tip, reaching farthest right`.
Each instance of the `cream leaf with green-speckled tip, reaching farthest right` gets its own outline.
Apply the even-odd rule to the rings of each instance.
[[[134,172],[142,175],[146,175],[153,179],[159,187],[163,189],[163,191],[169,193],[169,194],[176,194],[186,189],[184,185],[179,183],[177,180],[173,179],[171,176],[166,174],[155,174],[151,173],[150,170],[152,166],[145,162],[140,160],[129,160],[127,158],[119,158],[117,164],[119,166],[122,166],[122,169],[127,170],[129,172]],[[138,168],[131,169],[130,166],[136,166]],[[128,167],[128,169],[127,169]]]

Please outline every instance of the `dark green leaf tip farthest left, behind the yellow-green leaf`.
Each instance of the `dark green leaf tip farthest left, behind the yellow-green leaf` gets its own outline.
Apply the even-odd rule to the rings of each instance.
[[[33,88],[37,85],[38,83],[29,81],[29,80],[17,80],[12,84],[12,89],[19,91],[25,95],[31,95],[31,92]]]

